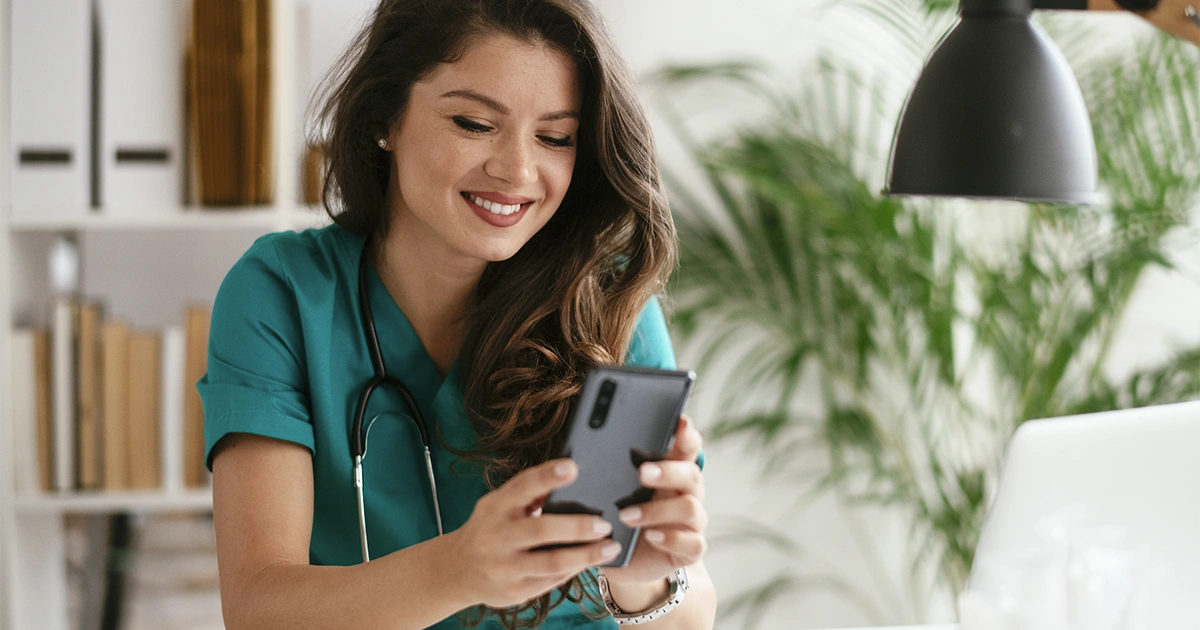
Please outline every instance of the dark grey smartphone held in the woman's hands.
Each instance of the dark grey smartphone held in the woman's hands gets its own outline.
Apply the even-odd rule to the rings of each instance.
[[[596,366],[588,372],[554,454],[575,460],[580,474],[546,498],[542,512],[592,514],[612,523],[622,552],[602,566],[625,566],[632,558],[641,528],[626,527],[617,512],[654,496],[637,469],[666,458],[695,382],[691,371]]]

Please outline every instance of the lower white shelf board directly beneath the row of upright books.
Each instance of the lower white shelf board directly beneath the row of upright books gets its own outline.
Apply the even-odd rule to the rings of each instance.
[[[13,506],[18,515],[202,511],[212,509],[212,491],[205,488],[179,493],[166,493],[152,490],[60,492],[37,496],[18,494],[14,497]]]

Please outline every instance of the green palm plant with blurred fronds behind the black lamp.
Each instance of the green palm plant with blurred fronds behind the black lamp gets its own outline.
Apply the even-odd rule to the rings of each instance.
[[[899,48],[922,52],[955,6],[856,2]],[[1073,59],[1079,41],[1060,38]],[[1106,370],[1139,281],[1176,270],[1172,244],[1192,235],[1200,52],[1156,38],[1078,64],[1108,203],[989,206],[1002,239],[971,235],[984,212],[976,205],[878,193],[908,82],[860,67],[826,55],[798,90],[746,64],[653,78],[668,95],[737,85],[769,110],[701,142],[662,101],[708,188],[690,192],[667,172],[682,244],[672,320],[701,370],[727,374],[710,439],[745,440],[764,479],[800,500],[832,492],[898,510],[913,548],[905,588],[953,595],[1020,422],[1200,396],[1196,347],[1153,368]],[[790,552],[779,545],[786,532],[738,527]],[[844,581],[824,583],[862,604]],[[750,628],[773,601],[812,586],[811,576],[776,575],[722,614],[746,613]]]

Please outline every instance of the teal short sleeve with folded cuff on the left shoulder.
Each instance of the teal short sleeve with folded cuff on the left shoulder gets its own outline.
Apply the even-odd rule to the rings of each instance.
[[[229,270],[212,306],[204,403],[205,462],[229,433],[254,433],[314,449],[295,293],[271,236]]]

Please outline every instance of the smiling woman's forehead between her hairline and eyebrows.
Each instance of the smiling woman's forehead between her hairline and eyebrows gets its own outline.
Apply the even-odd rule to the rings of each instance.
[[[516,110],[538,114],[580,108],[575,62],[565,53],[541,42],[529,43],[504,35],[473,38],[460,59],[438,65],[414,86],[438,98],[452,90],[474,90]]]

